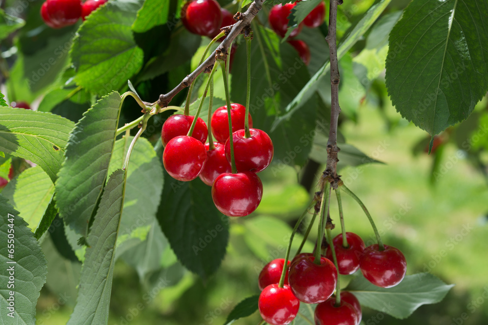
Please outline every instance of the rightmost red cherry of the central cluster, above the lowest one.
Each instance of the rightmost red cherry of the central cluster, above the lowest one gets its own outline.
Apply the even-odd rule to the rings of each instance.
[[[244,130],[232,134],[234,140],[234,159],[238,172],[262,172],[273,159],[273,142],[264,131],[249,129],[250,137]],[[230,141],[225,142],[225,156],[230,162]]]

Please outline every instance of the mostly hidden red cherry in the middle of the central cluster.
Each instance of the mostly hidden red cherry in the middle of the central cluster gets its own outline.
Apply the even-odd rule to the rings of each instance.
[[[224,145],[220,142],[214,142],[215,149],[209,150],[210,145],[205,144],[205,150],[207,151],[207,160],[203,165],[203,170],[200,172],[200,179],[206,185],[212,186],[213,182],[223,172],[231,172],[227,158],[225,157]]]

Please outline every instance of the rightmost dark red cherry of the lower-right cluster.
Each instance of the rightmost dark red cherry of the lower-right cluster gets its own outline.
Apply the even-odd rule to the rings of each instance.
[[[407,273],[407,260],[399,249],[385,245],[385,250],[380,250],[374,244],[364,250],[359,267],[373,285],[390,288],[402,282]]]

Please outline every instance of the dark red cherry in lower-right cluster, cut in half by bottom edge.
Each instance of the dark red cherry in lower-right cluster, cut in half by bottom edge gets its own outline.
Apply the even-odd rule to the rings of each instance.
[[[315,308],[316,325],[356,325],[357,314],[353,306],[341,300],[335,306],[335,298],[329,298]]]

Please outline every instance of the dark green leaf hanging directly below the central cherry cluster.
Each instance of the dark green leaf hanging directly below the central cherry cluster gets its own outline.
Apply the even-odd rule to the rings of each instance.
[[[229,219],[215,207],[200,179],[177,181],[164,173],[158,221],[184,267],[206,279],[219,268],[229,239]]]

